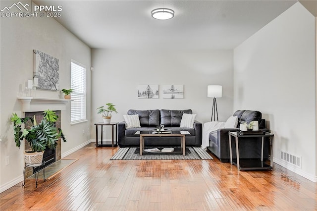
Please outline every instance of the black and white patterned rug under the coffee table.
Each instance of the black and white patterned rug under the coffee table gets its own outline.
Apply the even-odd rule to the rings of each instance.
[[[155,147],[154,147],[155,148]],[[177,154],[146,154],[140,156],[135,151],[137,147],[120,148],[110,160],[147,160],[147,159],[213,159],[205,150],[200,147],[188,147],[190,153],[185,156]]]

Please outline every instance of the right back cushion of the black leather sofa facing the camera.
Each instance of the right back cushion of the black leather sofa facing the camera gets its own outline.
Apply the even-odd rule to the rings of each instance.
[[[179,127],[184,113],[192,114],[191,109],[187,110],[160,110],[160,123],[165,127]]]

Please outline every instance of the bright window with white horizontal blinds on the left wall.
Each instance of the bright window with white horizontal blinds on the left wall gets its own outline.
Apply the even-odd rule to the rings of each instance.
[[[71,61],[70,123],[86,121],[86,67]]]

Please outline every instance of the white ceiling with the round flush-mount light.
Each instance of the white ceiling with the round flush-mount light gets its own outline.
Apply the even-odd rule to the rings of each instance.
[[[233,49],[297,0],[34,0],[91,48]],[[175,11],[169,20],[155,8]]]

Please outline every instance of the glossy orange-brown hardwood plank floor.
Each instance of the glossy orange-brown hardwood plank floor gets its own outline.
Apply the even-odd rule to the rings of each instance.
[[[27,180],[2,192],[0,210],[317,210],[316,183],[275,163],[272,171],[238,172],[216,158],[109,160],[116,150],[87,145],[38,188]]]

